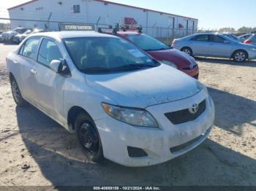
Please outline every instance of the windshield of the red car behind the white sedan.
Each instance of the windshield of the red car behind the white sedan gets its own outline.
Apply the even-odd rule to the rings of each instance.
[[[151,36],[147,36],[145,34],[141,35],[127,35],[127,39],[136,44],[142,50],[145,51],[156,51],[156,50],[167,50],[171,49],[171,47],[167,46],[167,44],[160,42],[157,39],[154,39]]]

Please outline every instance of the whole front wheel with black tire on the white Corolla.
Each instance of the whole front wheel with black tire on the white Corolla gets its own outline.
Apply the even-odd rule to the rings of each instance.
[[[86,157],[96,163],[102,162],[104,157],[99,132],[86,112],[80,112],[76,117],[75,130]]]

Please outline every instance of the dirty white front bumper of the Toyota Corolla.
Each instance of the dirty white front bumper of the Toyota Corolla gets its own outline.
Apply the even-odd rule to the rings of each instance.
[[[165,112],[186,109],[204,99],[206,111],[194,121],[174,125],[165,117]],[[95,121],[106,158],[127,166],[164,163],[201,144],[207,139],[214,123],[214,103],[204,90],[192,98],[149,106],[146,110],[155,117],[159,128],[135,127],[112,117]],[[127,147],[143,149],[147,156],[129,157]]]

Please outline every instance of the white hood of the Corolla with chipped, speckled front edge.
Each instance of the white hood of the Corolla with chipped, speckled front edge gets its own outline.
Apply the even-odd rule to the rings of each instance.
[[[86,74],[86,82],[112,104],[136,108],[181,100],[200,91],[197,80],[165,64],[118,74]]]

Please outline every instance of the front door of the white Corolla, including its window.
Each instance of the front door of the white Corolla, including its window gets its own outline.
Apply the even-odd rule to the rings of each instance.
[[[61,120],[63,109],[63,86],[66,77],[50,69],[50,62],[63,57],[59,47],[51,39],[42,39],[37,64],[34,65],[34,90],[37,104],[56,120]]]

